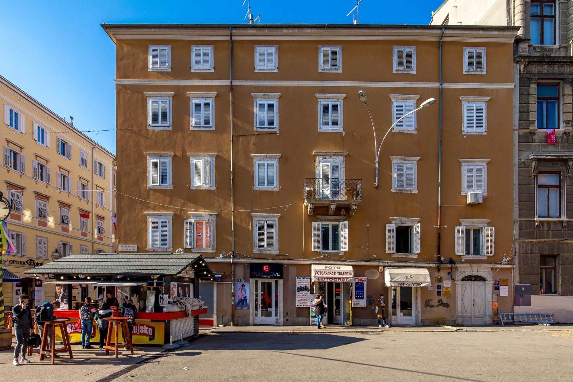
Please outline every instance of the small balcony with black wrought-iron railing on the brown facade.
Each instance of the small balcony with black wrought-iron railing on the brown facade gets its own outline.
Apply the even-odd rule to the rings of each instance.
[[[328,206],[328,214],[333,215],[336,206],[349,207],[354,215],[362,201],[361,179],[306,178],[304,181],[304,205],[308,215],[315,206]]]

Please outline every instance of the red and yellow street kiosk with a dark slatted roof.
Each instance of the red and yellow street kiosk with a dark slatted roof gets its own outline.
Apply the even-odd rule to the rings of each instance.
[[[113,272],[113,274],[111,274]],[[27,275],[48,275],[56,284],[54,299],[61,308],[57,317],[68,317],[67,331],[71,341],[80,341],[81,330],[74,329],[79,317],[80,301],[89,295],[102,303],[107,293],[119,301],[133,299],[139,305],[135,314],[133,343],[164,345],[199,333],[199,315],[209,307],[163,313],[174,297],[193,298],[199,290],[199,279],[215,281],[209,266],[197,254],[76,254],[55,260],[25,272]],[[52,301],[51,297],[46,299]],[[72,305],[72,306],[70,306]],[[75,307],[77,309],[66,309]],[[114,312],[119,315],[119,311]],[[92,342],[99,340],[93,326]],[[56,335],[57,340],[60,336]]]

